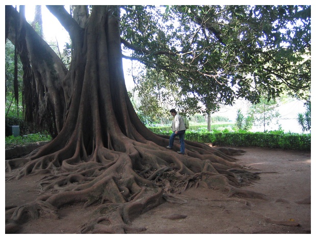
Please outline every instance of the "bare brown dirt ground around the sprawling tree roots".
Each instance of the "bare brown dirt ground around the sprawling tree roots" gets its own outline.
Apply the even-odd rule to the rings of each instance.
[[[310,152],[238,148],[247,153],[235,158],[261,177],[244,189],[264,193],[269,200],[228,198],[220,190],[191,188],[181,194],[183,203],[163,203],[136,218],[133,226],[145,226],[142,234],[311,233]],[[41,177],[6,182],[6,208],[39,196],[36,189]],[[93,211],[81,205],[63,207],[58,211],[60,219],[30,221],[18,233],[77,233]]]

